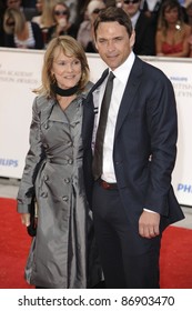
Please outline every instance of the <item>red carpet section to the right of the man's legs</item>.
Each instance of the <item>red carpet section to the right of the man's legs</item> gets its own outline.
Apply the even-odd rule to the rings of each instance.
[[[192,289],[192,230],[164,231],[160,264],[162,289]]]

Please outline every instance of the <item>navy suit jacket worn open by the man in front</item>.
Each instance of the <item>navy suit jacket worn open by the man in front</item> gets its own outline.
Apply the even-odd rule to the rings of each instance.
[[[84,181],[90,204],[93,182],[92,92],[102,81],[103,78],[92,88],[83,112]],[[162,215],[161,229],[184,218],[171,185],[176,139],[173,87],[161,70],[135,57],[118,114],[113,163],[124,210],[137,230],[143,208]]]

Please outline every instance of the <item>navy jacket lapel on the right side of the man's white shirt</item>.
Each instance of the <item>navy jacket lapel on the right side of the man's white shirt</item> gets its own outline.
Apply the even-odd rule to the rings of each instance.
[[[129,110],[133,103],[133,99],[141,83],[141,74],[142,74],[142,61],[138,57],[135,57],[135,61],[130,72],[130,77],[128,79],[128,83],[121,100],[120,110],[117,119],[114,138],[117,138],[118,132],[121,129],[121,126],[123,124],[129,113]]]

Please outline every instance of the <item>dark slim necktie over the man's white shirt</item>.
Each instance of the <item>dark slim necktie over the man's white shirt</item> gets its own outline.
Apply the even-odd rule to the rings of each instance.
[[[100,120],[99,120],[98,131],[95,137],[94,157],[93,157],[93,177],[95,180],[99,179],[102,174],[103,141],[104,141],[104,132],[107,128],[108,111],[111,101],[111,93],[113,89],[113,79],[114,79],[114,74],[111,71],[108,78],[103,100],[101,103]]]

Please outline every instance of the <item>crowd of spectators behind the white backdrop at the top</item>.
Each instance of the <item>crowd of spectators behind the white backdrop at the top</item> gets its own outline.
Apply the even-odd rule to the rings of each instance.
[[[110,6],[130,16],[137,54],[192,57],[192,0],[0,0],[0,47],[46,49],[69,34],[97,53],[92,26]]]

